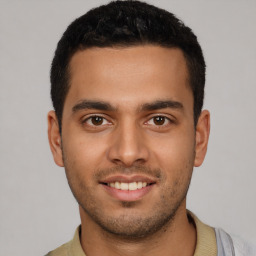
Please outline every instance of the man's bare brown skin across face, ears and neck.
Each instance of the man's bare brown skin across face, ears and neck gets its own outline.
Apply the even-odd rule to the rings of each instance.
[[[194,127],[182,51],[91,48],[75,53],[70,71],[62,134],[50,111],[48,135],[79,203],[85,253],[193,255],[196,231],[186,194],[193,167],[206,154],[210,115],[202,111]],[[118,175],[153,184],[138,199],[119,200],[102,184]]]

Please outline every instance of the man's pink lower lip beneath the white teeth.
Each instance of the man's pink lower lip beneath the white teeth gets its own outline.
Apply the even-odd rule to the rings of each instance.
[[[110,194],[112,197],[120,200],[120,201],[126,201],[126,202],[132,202],[132,201],[138,201],[142,199],[146,194],[150,192],[150,190],[153,188],[154,184],[151,184],[149,186],[146,186],[141,189],[136,190],[121,190],[109,187],[107,185],[101,184],[104,189],[107,191],[108,194]]]

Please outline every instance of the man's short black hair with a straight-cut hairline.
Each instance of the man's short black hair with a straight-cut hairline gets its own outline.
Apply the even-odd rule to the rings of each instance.
[[[60,41],[51,66],[51,98],[61,131],[62,112],[70,88],[69,62],[92,47],[157,45],[182,50],[194,98],[197,124],[204,99],[205,61],[197,37],[176,16],[141,1],[112,1],[74,20]]]

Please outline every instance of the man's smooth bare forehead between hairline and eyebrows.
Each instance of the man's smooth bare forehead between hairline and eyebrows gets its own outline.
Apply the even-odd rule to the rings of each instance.
[[[188,80],[185,58],[177,48],[90,48],[75,53],[70,61],[65,105],[97,99],[136,107],[163,98],[193,105]]]

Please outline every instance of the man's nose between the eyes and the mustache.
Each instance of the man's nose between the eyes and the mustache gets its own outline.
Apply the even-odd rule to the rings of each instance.
[[[113,133],[108,159],[126,167],[145,163],[149,158],[149,149],[141,129],[135,124],[120,125]]]

